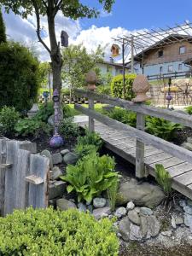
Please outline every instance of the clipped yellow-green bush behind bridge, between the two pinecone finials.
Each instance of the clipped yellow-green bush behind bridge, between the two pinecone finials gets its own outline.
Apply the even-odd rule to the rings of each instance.
[[[125,100],[131,101],[134,97],[132,84],[135,78],[136,74],[125,74]],[[111,92],[114,97],[124,98],[123,75],[119,74],[113,77],[111,82]]]

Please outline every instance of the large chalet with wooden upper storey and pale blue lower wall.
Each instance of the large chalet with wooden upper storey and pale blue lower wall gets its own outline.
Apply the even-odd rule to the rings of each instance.
[[[135,73],[146,76],[188,73],[192,58],[192,36],[171,34],[134,56]],[[131,69],[131,63],[127,63]]]

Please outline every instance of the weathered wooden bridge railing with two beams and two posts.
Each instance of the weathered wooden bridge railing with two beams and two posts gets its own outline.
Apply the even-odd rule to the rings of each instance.
[[[111,96],[99,95],[90,90],[75,90],[78,96],[84,96],[89,98],[89,108],[84,108],[79,104],[75,104],[75,109],[89,116],[89,129],[94,131],[94,121],[98,120],[104,125],[109,125],[115,130],[125,131],[128,136],[135,137],[137,139],[136,145],[136,176],[144,177],[144,144],[150,144],[155,148],[160,148],[167,154],[172,154],[181,160],[185,160],[192,163],[192,152],[185,148],[181,148],[173,143],[166,142],[165,140],[148,134],[144,131],[144,119],[145,115],[163,118],[181,125],[192,127],[192,116],[185,113],[178,113],[163,108],[154,108],[141,103],[134,103],[125,101],[119,98],[113,98]],[[117,120],[111,119],[102,113],[94,111],[94,100],[102,103],[111,104],[120,108],[125,108],[137,113],[137,128],[133,128],[130,125],[125,125]]]

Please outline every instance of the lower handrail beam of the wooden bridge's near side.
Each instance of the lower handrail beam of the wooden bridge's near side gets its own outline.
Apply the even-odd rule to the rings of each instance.
[[[91,116],[91,118],[94,118],[105,125],[109,125],[113,129],[125,131],[129,137],[136,137],[143,143],[153,145],[155,148],[159,148],[166,152],[167,154],[172,154],[181,160],[185,160],[188,161],[189,163],[192,163],[192,152],[185,148],[181,148],[175,144],[166,142],[159,137],[155,137],[151,134],[148,134],[147,132],[139,131],[136,128],[133,128],[129,125],[122,124],[117,120],[110,119],[109,117],[104,116],[101,113],[96,113],[96,111],[90,110],[88,108],[75,105],[75,109],[81,111],[86,115]]]

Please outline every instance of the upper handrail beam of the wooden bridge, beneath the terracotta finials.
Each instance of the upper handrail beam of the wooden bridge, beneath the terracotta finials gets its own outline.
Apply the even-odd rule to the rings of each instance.
[[[102,103],[111,104],[120,108],[125,108],[137,113],[163,118],[174,123],[192,127],[192,116],[185,113],[179,113],[164,108],[155,108],[144,104],[137,105],[134,102],[125,101],[119,98],[113,98],[107,95],[96,94],[96,92],[89,90],[76,89],[75,93],[81,96],[86,96],[93,100],[98,100]]]

